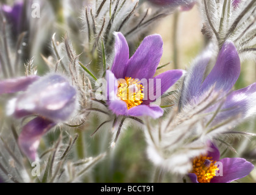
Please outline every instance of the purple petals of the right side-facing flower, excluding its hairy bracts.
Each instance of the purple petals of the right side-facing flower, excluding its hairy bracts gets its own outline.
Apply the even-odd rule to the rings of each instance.
[[[213,94],[218,94],[219,103],[217,101],[216,104],[210,105],[204,112],[215,112],[219,106],[221,109],[212,121],[212,125],[238,115],[240,118],[236,122],[254,116],[256,114],[256,83],[230,92],[240,76],[241,69],[240,58],[232,41],[227,40],[223,44],[215,66],[205,77],[212,55],[212,49],[207,49],[188,71],[180,102],[181,107],[201,104],[209,96],[209,91],[213,90]]]

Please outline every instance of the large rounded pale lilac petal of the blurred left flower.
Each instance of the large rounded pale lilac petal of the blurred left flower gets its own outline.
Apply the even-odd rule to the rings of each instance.
[[[20,118],[33,113],[59,122],[68,119],[75,107],[75,88],[59,74],[50,74],[41,77],[18,96],[15,116]]]

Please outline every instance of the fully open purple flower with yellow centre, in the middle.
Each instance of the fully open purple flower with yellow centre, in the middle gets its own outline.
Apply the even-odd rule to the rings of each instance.
[[[160,35],[150,35],[144,38],[129,59],[126,38],[121,32],[116,33],[115,59],[111,71],[108,70],[106,74],[107,103],[113,113],[152,118],[163,115],[162,108],[150,104],[176,83],[183,71],[170,70],[154,77],[162,52],[163,41]],[[154,96],[157,90],[160,93]]]

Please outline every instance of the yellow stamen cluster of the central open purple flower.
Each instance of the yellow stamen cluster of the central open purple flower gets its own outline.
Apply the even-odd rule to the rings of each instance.
[[[128,110],[132,107],[140,105],[144,98],[143,86],[139,80],[134,80],[131,77],[125,77],[125,79],[118,80],[118,93],[119,99],[126,102]]]

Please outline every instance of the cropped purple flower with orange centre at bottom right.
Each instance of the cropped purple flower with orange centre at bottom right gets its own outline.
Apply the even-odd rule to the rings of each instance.
[[[254,165],[244,158],[219,159],[218,148],[211,143],[207,154],[194,158],[188,176],[193,183],[229,183],[247,176]]]

